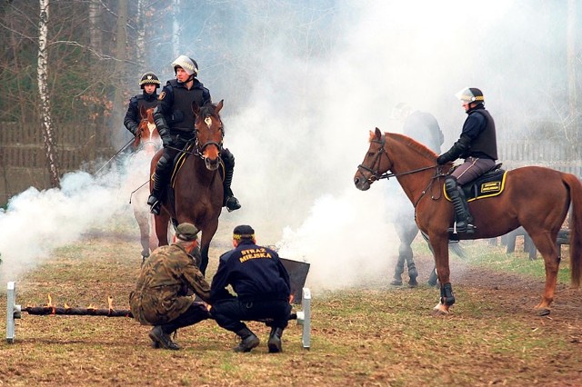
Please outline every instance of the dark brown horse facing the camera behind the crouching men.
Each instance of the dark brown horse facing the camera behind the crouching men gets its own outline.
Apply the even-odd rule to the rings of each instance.
[[[162,209],[156,215],[156,234],[159,245],[167,241],[167,227],[173,223],[193,223],[202,232],[200,243],[200,271],[206,273],[210,241],[218,228],[218,217],[222,210],[223,184],[219,173],[221,167],[220,150],[224,128],[220,115],[223,101],[206,104],[203,107],[192,104],[196,115],[196,143],[191,151],[186,151],[181,167],[174,181],[175,200],[170,203],[171,195],[166,194]],[[161,152],[152,159],[151,174],[156,171],[156,163]],[[152,184],[150,184],[152,185]],[[151,189],[151,187],[150,187]]]

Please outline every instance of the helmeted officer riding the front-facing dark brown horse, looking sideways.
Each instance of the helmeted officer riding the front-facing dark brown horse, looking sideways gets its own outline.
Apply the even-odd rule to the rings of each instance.
[[[164,144],[164,154],[156,164],[156,173],[153,176],[154,187],[147,199],[151,212],[156,214],[160,212],[161,200],[176,154],[196,137],[194,127],[196,117],[192,111],[192,103],[200,107],[212,103],[210,91],[196,78],[198,65],[194,59],[180,55],[172,62],[172,66],[176,79],[167,81],[154,111],[157,131]],[[225,164],[223,205],[231,212],[240,208],[240,203],[230,188],[235,169],[235,156],[225,148],[221,150],[220,157]]]

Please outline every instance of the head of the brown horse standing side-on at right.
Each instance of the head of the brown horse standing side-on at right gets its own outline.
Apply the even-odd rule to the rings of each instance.
[[[369,141],[370,147],[362,164],[357,166],[356,175],[354,176],[356,188],[362,191],[368,190],[370,184],[378,180],[382,174],[392,167],[384,147],[386,136],[380,132],[380,129],[376,128],[376,131],[370,131]]]

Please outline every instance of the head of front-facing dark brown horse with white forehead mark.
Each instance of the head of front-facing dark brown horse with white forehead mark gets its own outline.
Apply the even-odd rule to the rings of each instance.
[[[223,101],[218,104],[206,104],[198,107],[192,104],[196,115],[196,151],[205,161],[206,168],[214,171],[220,165],[220,151],[225,130],[218,113],[222,109]]]

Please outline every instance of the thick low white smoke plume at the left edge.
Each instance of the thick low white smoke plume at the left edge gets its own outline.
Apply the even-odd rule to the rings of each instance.
[[[130,193],[138,186],[128,178],[132,174],[125,173],[128,166],[147,171],[144,159],[136,154],[108,165],[96,177],[81,171],[68,173],[61,179],[61,188],[38,191],[30,187],[11,198],[6,210],[0,210],[2,281],[15,281],[55,248],[78,241],[93,227],[111,224],[115,217],[127,216]]]

